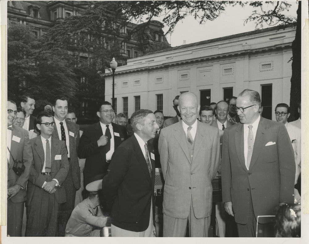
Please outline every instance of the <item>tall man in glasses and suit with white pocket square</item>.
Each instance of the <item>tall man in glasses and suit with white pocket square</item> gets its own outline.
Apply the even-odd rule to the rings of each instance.
[[[235,216],[239,237],[255,236],[257,216],[275,215],[279,204],[294,203],[289,135],[282,123],[259,115],[260,103],[257,91],[243,90],[236,101],[240,123],[223,135],[222,200]]]

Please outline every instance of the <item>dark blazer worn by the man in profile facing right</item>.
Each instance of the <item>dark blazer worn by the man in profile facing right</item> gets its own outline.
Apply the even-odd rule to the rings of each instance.
[[[138,141],[133,135],[115,151],[103,179],[102,190],[108,207],[112,208],[112,224],[135,232],[145,231],[149,225],[150,211],[155,222],[155,160],[154,149],[148,144],[152,180]],[[152,199],[152,209],[150,209]]]

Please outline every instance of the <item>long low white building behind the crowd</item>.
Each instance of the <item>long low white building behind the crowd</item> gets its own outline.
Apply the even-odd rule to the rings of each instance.
[[[227,100],[248,88],[260,93],[263,117],[275,119],[277,103],[290,103],[294,25],[167,48],[128,60],[115,72],[117,112],[140,108],[175,116],[172,101],[190,91],[201,106]],[[105,98],[112,100],[112,74],[106,70]]]

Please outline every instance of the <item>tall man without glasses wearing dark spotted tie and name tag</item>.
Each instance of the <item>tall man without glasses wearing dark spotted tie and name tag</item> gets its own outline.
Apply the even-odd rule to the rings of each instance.
[[[79,126],[66,120],[68,113],[68,99],[63,95],[56,95],[53,99],[53,111],[55,126],[52,136],[64,141],[68,153],[70,165],[69,173],[66,176],[63,186],[66,188],[66,202],[61,205],[58,218],[58,236],[64,236],[66,223],[74,209],[76,191],[80,188],[80,168],[77,157],[79,144]]]

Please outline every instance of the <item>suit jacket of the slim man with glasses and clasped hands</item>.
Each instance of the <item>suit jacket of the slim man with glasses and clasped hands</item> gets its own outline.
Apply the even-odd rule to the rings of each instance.
[[[36,197],[33,196],[34,189],[36,187],[41,188],[45,182],[45,177],[41,174],[45,159],[41,136],[31,139],[30,144],[33,153],[33,163],[27,186],[27,205],[31,204],[31,200],[33,197]],[[52,179],[57,179],[59,182],[59,186],[57,187],[57,190],[54,194],[57,202],[60,204],[66,202],[66,190],[64,187],[61,186],[63,181],[66,179],[66,175],[68,174],[70,167],[64,141],[60,141],[52,137],[50,145],[50,155],[52,160],[51,177]],[[61,159],[56,160],[56,155],[61,155]]]

